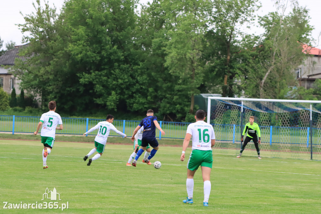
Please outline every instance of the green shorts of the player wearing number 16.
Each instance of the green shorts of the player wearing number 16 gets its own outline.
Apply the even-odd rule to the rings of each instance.
[[[213,164],[213,154],[212,150],[192,150],[187,162],[187,168],[189,170],[196,170],[199,166],[206,166],[212,168]]]

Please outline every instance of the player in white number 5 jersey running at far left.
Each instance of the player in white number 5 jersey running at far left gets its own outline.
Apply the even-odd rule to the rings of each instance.
[[[55,142],[56,129],[62,130],[62,120],[59,114],[56,111],[56,102],[50,101],[48,103],[49,111],[44,113],[40,117],[40,121],[37,126],[37,130],[33,132],[34,135],[38,134],[38,131],[41,128],[41,143],[44,146],[42,150],[42,160],[43,160],[43,168],[47,169],[47,156],[50,154],[52,147]],[[59,125],[59,127],[57,126]]]

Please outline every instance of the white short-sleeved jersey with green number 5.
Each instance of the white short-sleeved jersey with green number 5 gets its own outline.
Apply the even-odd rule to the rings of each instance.
[[[62,124],[60,115],[55,111],[48,111],[41,115],[40,121],[42,122],[40,136],[55,138],[56,127]]]

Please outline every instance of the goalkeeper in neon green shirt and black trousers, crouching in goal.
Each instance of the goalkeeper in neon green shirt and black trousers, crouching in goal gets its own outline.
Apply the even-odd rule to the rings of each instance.
[[[245,128],[242,133],[242,137],[241,137],[241,142],[243,142],[243,136],[245,135],[246,132],[247,132],[247,135],[244,140],[244,144],[241,147],[240,154],[236,157],[240,158],[247,143],[250,142],[250,140],[253,140],[258,158],[261,159],[260,148],[259,148],[259,144],[261,143],[261,132],[260,132],[260,127],[257,125],[257,123],[254,122],[254,116],[250,116],[249,122],[245,125]]]

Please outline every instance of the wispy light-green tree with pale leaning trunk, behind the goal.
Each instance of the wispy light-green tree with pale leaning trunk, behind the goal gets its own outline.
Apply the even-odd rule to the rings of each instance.
[[[310,43],[308,36],[313,30],[308,24],[308,10],[296,0],[291,1],[292,11],[288,15],[285,15],[286,4],[276,1],[276,6],[277,12],[260,17],[266,30],[259,47],[260,64],[265,68],[259,85],[260,98],[283,99],[289,86],[296,85],[292,71],[306,58],[302,45]]]

